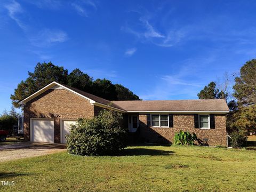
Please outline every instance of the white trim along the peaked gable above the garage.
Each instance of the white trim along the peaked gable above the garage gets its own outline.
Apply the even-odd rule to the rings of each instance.
[[[46,85],[45,87],[43,87],[41,90],[38,90],[37,92],[31,94],[29,97],[27,97],[27,98],[21,100],[21,101],[19,102],[19,104],[20,104],[20,105],[25,105],[26,102],[30,101],[31,99],[34,99],[34,98],[37,97],[38,95],[44,93],[45,91],[51,89],[52,87],[54,87],[54,86],[56,86],[56,85],[62,87],[62,88],[65,89],[65,90],[68,90],[68,91],[70,91],[70,92],[72,92],[72,93],[75,93],[75,94],[79,95],[80,97],[82,97],[82,98],[84,98],[84,99],[89,100],[90,103],[95,103],[94,100],[92,100],[92,99],[90,99],[90,98],[87,98],[87,97],[85,97],[84,95],[79,94],[79,93],[77,93],[77,92],[75,92],[75,91],[69,89],[69,88],[66,87],[66,86],[63,86],[63,85],[61,85],[61,84],[59,84],[59,83],[57,83],[57,82],[52,82],[52,83],[50,83],[49,85]]]

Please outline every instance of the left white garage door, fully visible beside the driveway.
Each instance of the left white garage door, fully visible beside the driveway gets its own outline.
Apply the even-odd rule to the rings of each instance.
[[[54,143],[54,123],[53,120],[33,119],[32,138],[34,142]]]

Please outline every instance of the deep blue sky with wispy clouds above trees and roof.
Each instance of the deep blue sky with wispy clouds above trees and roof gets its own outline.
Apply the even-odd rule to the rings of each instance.
[[[0,1],[0,111],[37,62],[128,87],[144,100],[197,99],[256,54],[255,1]]]

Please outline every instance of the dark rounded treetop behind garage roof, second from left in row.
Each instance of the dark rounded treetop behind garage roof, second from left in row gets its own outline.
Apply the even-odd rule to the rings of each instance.
[[[84,74],[80,69],[74,69],[67,77],[67,85],[76,89],[91,92],[93,78]]]

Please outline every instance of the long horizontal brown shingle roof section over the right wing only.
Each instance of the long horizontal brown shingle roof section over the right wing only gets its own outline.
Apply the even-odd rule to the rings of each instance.
[[[229,111],[225,99],[113,101],[126,111]]]

